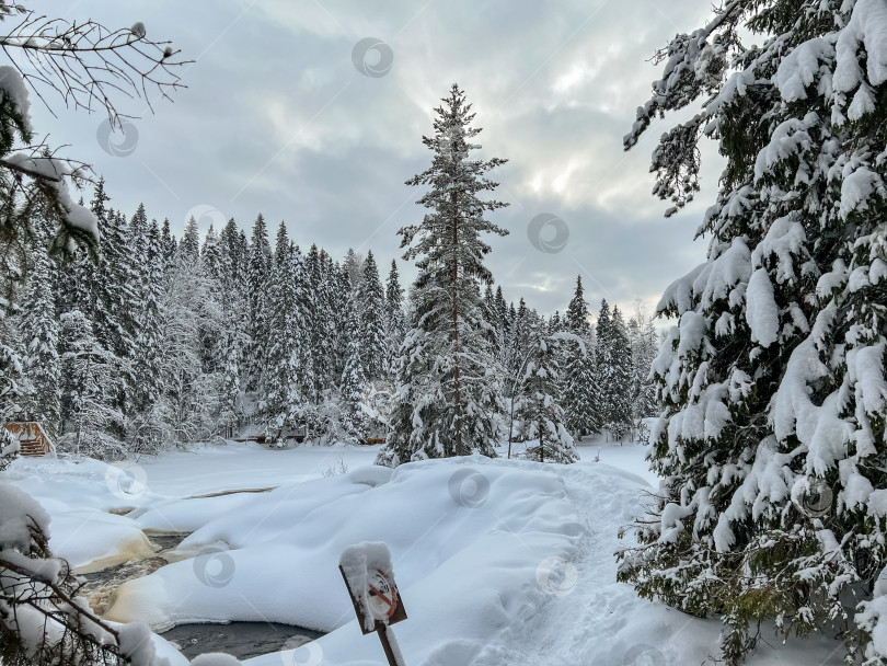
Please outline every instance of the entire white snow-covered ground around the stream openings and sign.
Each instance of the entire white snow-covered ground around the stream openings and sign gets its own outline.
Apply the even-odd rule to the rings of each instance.
[[[647,450],[586,440],[573,466],[473,457],[392,472],[371,467],[377,447],[232,444],[131,464],[19,460],[3,474],[47,509],[50,544],[74,566],[145,556],[142,529],[194,532],[180,561],[118,590],[110,619],[330,632],[250,666],[384,663],[337,571],[341,552],[365,540],[391,549],[408,615],[395,633],[408,664],[714,663],[716,620],[614,582],[619,528],[655,483]],[[764,639],[749,666],[841,663],[828,638]]]

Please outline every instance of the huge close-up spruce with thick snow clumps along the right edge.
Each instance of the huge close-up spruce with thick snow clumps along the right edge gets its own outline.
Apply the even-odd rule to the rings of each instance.
[[[799,635],[846,623],[850,659],[887,661],[885,25],[883,0],[727,2],[660,51],[625,139],[701,102],[653,156],[676,207],[703,136],[727,159],[707,260],[658,307],[677,318],[654,364],[664,482],[619,573],[719,613],[727,664],[765,618]]]

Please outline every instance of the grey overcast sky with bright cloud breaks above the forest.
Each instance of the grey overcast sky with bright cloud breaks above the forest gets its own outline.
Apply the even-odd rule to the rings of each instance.
[[[59,4],[31,7],[59,15]],[[154,115],[138,101],[125,105],[141,116],[125,157],[101,146],[99,113],[66,112],[61,103],[58,117],[38,105],[32,113],[39,135],[70,143],[67,154],[104,175],[112,206],[131,215],[143,202],[149,217],[169,217],[176,234],[195,209],[209,211],[203,229],[223,216],[247,231],[261,211],[273,231],[285,220],[303,250],[316,242],[336,259],[349,246],[372,250],[387,272],[400,260],[398,228],[423,215],[414,205],[422,192],[403,183],[428,165],[422,136],[431,133],[433,107],[459,82],[484,128],[479,154],[509,160],[494,176],[502,183],[496,197],[510,206],[493,219],[511,233],[492,239],[488,257],[507,299],[525,296],[541,312],[563,311],[581,274],[595,310],[603,297],[624,308],[641,298],[652,308],[704,259],[706,241],[692,238],[714,198],[717,156],[705,156],[698,202],[666,220],[667,204],[650,196],[648,173],[666,124],[630,153],[622,136],[659,76],[647,60],[677,32],[702,24],[707,1],[65,5],[67,19],[110,27],[141,21],[149,36],[172,39],[195,60],[174,103],[157,104]],[[390,48],[383,76],[367,76],[353,61],[355,45],[368,37],[383,45],[358,62],[382,73]],[[545,226],[543,241],[562,244],[554,237],[568,230],[557,252],[537,249],[528,236],[542,214],[564,221]],[[412,277],[412,267],[402,273]]]

